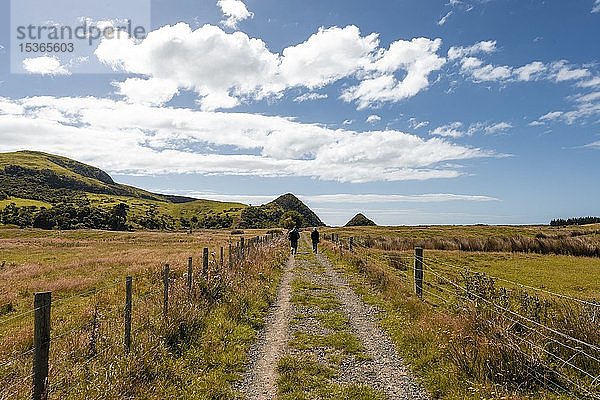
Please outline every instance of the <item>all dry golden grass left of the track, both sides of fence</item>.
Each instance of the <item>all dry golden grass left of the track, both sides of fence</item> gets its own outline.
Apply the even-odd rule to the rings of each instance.
[[[248,230],[245,237],[263,233]],[[285,253],[281,246],[269,245],[229,269],[230,240],[235,245],[239,236],[230,239],[229,231],[0,229],[0,398],[29,396],[31,309],[38,291],[53,292],[50,389],[55,398],[231,395],[228,381],[243,366],[245,349],[275,293]],[[211,252],[209,279],[196,278],[188,299],[188,257],[199,277],[204,247]],[[167,319],[162,315],[165,263],[171,266]],[[133,350],[128,357],[122,317],[126,276],[134,277]],[[197,375],[186,369],[192,365],[213,371],[196,386],[186,383],[200,397],[182,386],[181,380]]]

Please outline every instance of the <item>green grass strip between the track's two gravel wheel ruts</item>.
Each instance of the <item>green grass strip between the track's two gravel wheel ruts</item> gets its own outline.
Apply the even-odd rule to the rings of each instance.
[[[301,249],[308,250],[302,242]],[[386,397],[370,386],[341,383],[341,364],[370,360],[365,349],[350,330],[347,316],[334,288],[320,280],[325,268],[312,253],[296,255],[296,278],[292,281],[291,302],[297,313],[292,317],[293,339],[290,354],[277,365],[281,400],[384,400]],[[318,280],[319,282],[315,282]],[[318,330],[315,333],[312,330]]]

